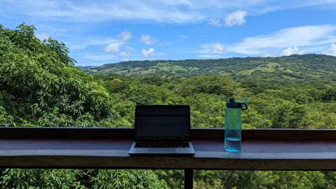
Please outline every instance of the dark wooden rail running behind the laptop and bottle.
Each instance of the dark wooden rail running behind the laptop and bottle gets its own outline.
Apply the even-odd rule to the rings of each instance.
[[[242,130],[243,140],[336,140],[336,130],[254,129]],[[191,139],[221,140],[223,129],[190,131]],[[133,128],[104,127],[0,127],[0,139],[133,139]]]

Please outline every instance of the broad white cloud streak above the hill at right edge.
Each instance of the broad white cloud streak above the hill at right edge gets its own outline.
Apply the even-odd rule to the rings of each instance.
[[[288,47],[311,47],[336,43],[336,26],[314,25],[281,29],[273,34],[246,37],[226,50],[246,55],[273,54]],[[322,51],[322,50],[321,50]]]

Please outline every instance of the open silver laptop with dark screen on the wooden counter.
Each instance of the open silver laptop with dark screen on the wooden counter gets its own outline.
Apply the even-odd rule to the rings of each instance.
[[[130,155],[193,155],[188,105],[138,105]]]

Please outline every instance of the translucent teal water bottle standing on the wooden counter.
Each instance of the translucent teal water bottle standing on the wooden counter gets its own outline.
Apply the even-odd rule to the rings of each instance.
[[[247,109],[246,98],[235,101],[231,98],[225,108],[224,148],[228,152],[241,150],[241,111]]]

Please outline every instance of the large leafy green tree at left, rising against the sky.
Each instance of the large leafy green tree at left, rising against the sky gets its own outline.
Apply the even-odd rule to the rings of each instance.
[[[0,104],[13,116],[11,124],[29,120],[38,125],[52,113],[69,123],[87,113],[94,120],[113,117],[104,87],[73,66],[64,43],[51,38],[41,42],[34,30],[24,24],[15,30],[0,27]]]

